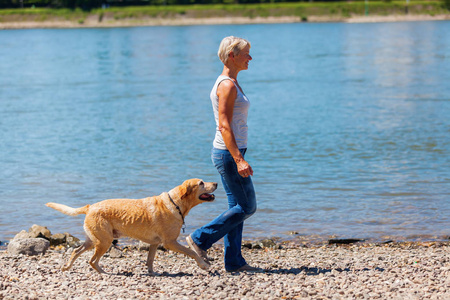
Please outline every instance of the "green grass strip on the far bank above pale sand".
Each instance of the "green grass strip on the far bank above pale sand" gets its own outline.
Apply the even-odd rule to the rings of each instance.
[[[405,14],[405,1],[369,1],[370,15]],[[307,20],[308,16],[329,16],[347,18],[353,15],[364,15],[364,1],[355,2],[298,2],[267,4],[212,4],[212,5],[174,5],[174,6],[129,6],[111,7],[106,10],[94,9],[85,12],[80,9],[1,9],[1,21],[43,21],[43,20],[85,20],[88,16],[96,16],[101,22],[106,18],[143,19],[143,18],[188,18],[208,17],[280,17],[297,16]],[[414,1],[409,4],[410,14],[449,14],[443,1]]]

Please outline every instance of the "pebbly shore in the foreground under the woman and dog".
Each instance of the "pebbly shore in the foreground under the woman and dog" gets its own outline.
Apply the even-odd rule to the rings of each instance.
[[[220,245],[209,250],[210,272],[159,250],[156,276],[137,249],[105,255],[101,265],[112,275],[103,276],[87,263],[92,253],[62,272],[71,249],[34,257],[0,251],[0,299],[450,299],[450,242],[275,248],[244,248],[261,273],[225,272]]]

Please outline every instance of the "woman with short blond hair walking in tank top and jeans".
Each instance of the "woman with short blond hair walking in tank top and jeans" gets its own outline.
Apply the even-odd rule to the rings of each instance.
[[[237,81],[237,75],[248,69],[250,43],[237,37],[222,40],[218,52],[224,67],[211,91],[216,120],[212,161],[222,177],[228,197],[228,210],[211,223],[187,237],[189,246],[206,261],[206,250],[224,237],[225,269],[229,272],[257,271],[241,253],[244,220],[256,211],[253,170],[244,159],[247,150],[247,112],[250,105]]]

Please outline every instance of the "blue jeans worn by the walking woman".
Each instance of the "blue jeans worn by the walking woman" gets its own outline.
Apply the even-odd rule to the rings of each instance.
[[[246,149],[240,149],[245,155]],[[228,150],[212,149],[211,158],[222,177],[228,197],[228,210],[209,224],[191,234],[192,240],[203,250],[224,238],[225,269],[236,270],[246,264],[242,257],[242,229],[244,220],[256,211],[255,189],[252,179],[239,175],[236,163]]]

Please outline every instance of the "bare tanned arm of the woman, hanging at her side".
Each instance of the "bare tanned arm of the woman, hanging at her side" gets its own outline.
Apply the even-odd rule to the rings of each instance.
[[[230,80],[224,80],[217,88],[217,96],[219,97],[219,130],[222,133],[225,146],[236,162],[239,174],[242,177],[253,175],[252,167],[244,160],[244,157],[239,151],[231,128],[237,88]]]

